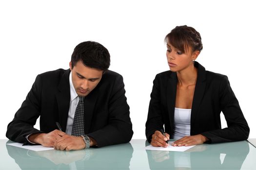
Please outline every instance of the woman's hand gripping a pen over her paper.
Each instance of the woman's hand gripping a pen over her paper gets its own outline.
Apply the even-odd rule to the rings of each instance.
[[[167,140],[169,140],[170,135],[165,133],[165,136],[160,131],[155,131],[155,133],[152,135],[151,139],[151,145],[154,147],[167,147],[169,144],[166,143]]]

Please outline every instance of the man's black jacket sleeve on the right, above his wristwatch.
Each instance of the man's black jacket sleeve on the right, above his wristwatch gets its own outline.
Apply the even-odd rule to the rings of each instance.
[[[97,141],[98,147],[129,142],[133,136],[129,109],[123,78],[119,75],[115,80],[108,101],[109,119],[107,125],[87,135]]]

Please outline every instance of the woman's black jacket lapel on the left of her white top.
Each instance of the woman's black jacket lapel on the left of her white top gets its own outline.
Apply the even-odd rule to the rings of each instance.
[[[167,83],[166,98],[172,132],[174,130],[174,109],[177,91],[177,74],[172,72]]]

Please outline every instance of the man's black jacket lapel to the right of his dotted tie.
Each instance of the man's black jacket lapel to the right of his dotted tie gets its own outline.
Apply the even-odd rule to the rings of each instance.
[[[88,134],[90,132],[90,127],[92,124],[92,117],[94,106],[98,97],[97,87],[84,98],[84,133]]]

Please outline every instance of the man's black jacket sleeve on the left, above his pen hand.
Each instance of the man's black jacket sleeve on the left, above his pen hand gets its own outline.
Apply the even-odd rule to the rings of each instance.
[[[7,138],[15,142],[29,144],[25,136],[34,133],[42,133],[34,128],[40,115],[40,95],[41,80],[38,75],[25,101],[16,112],[14,119],[7,126]]]

